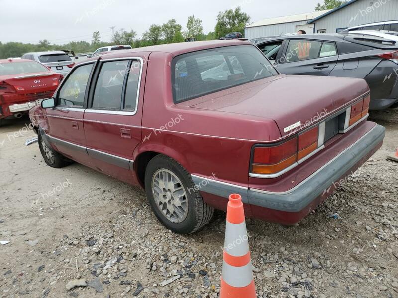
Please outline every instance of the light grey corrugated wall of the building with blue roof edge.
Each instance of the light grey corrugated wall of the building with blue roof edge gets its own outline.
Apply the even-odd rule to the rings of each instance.
[[[351,0],[313,18],[313,33],[336,33],[349,27],[398,19],[398,0]]]

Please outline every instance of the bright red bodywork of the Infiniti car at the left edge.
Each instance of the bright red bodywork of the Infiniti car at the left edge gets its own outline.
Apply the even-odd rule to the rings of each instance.
[[[42,72],[18,73],[1,75],[1,68],[20,63],[41,64],[27,59],[2,59],[0,60],[0,119],[13,114],[27,112],[26,110],[12,112],[10,106],[14,104],[32,103],[49,98],[58,88],[62,75],[49,71],[45,66]],[[46,69],[46,70],[44,70]],[[37,101],[37,102],[36,102]]]

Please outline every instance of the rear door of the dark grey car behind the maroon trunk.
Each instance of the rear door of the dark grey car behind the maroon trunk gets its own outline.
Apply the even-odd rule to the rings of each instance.
[[[291,39],[280,59],[282,74],[327,76],[338,60],[336,44],[329,41]]]

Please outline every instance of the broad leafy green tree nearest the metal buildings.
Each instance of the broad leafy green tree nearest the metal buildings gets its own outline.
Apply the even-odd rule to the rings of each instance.
[[[250,16],[242,12],[240,7],[235,10],[228,9],[220,11],[217,15],[217,24],[215,25],[215,36],[220,38],[229,32],[244,32],[245,26],[249,23]]]

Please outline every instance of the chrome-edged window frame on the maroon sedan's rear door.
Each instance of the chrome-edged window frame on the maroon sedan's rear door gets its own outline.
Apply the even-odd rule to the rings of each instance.
[[[121,109],[110,109],[110,108],[93,108],[93,97],[94,97],[94,89],[95,88],[91,88],[90,90],[90,94],[89,94],[89,99],[88,103],[87,103],[87,109],[85,112],[87,113],[99,113],[99,114],[112,114],[112,115],[125,115],[125,116],[133,116],[137,113],[138,110],[138,101],[139,101],[139,97],[140,97],[140,89],[141,89],[141,80],[142,80],[142,71],[144,68],[144,59],[142,57],[120,57],[120,58],[106,58],[106,59],[101,59],[99,60],[100,67],[97,68],[96,74],[94,76],[94,79],[92,80],[92,82],[95,84],[97,84],[97,80],[98,77],[100,76],[100,70],[101,70],[101,66],[104,62],[112,62],[112,61],[120,61],[120,60],[128,60],[128,65],[131,67],[131,64],[134,62],[134,60],[138,60],[140,62],[140,73],[138,76],[138,86],[137,86],[137,97],[136,97],[136,101],[135,101],[135,108],[134,111],[129,111],[129,110],[121,110]],[[122,92],[122,100],[124,103],[124,97],[126,96],[125,94],[125,88],[126,88],[126,84],[127,84],[127,80],[125,79],[127,77],[127,73],[124,76],[123,79],[123,92]],[[95,86],[93,86],[95,87]],[[90,107],[89,107],[90,106]]]

